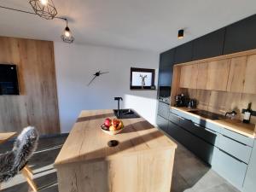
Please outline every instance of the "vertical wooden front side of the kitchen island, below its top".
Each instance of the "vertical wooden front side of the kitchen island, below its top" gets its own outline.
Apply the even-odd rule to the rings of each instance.
[[[60,192],[170,192],[175,148],[57,166]]]

